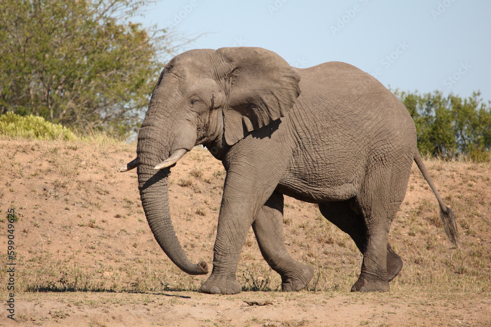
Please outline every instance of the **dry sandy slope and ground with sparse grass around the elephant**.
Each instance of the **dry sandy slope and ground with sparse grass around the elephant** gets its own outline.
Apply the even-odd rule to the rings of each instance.
[[[206,276],[185,275],[155,242],[136,172],[116,173],[134,155],[135,145],[110,142],[0,141],[5,262],[7,209],[18,218],[14,324],[166,326],[172,318],[180,326],[491,326],[489,163],[426,161],[456,213],[459,249],[446,240],[436,199],[413,166],[390,233],[405,261],[390,294],[349,293],[361,265],[353,241],[316,205],[286,198],[287,247],[316,271],[307,289],[277,292],[280,278],[250,232],[237,274],[245,292],[210,296],[196,292]],[[172,170],[173,224],[194,262],[212,262],[224,177],[203,149]],[[7,280],[5,269],[0,277]],[[3,312],[0,324],[10,325]]]

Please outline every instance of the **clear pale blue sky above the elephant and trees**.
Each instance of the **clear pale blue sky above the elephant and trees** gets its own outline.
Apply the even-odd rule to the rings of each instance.
[[[491,100],[491,1],[161,0],[144,25],[205,35],[189,49],[262,47],[292,66],[343,61],[383,85]]]

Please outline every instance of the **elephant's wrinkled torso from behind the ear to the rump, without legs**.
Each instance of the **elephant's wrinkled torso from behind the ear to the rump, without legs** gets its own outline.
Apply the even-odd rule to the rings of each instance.
[[[285,117],[295,146],[285,178],[290,182],[283,184],[316,185],[319,196],[335,190],[338,197],[330,199],[349,199],[372,163],[412,162],[414,122],[379,81],[340,62],[300,70],[300,76],[300,97]]]

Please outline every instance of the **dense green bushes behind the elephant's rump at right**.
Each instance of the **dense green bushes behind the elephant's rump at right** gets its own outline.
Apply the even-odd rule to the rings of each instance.
[[[454,94],[409,93],[395,90],[416,125],[418,149],[422,154],[452,158],[465,155],[488,161],[491,155],[491,104],[479,92],[461,98]]]

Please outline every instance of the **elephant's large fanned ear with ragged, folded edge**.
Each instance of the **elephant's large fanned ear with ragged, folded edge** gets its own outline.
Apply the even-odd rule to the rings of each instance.
[[[283,58],[262,48],[221,48],[227,100],[223,109],[228,145],[266,126],[293,107],[300,75]]]

